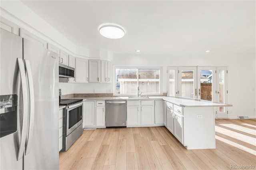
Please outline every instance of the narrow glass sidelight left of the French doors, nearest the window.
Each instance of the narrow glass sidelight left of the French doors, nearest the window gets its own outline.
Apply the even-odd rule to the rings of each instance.
[[[178,67],[167,67],[167,96],[178,96]]]

